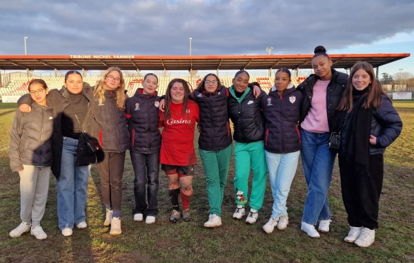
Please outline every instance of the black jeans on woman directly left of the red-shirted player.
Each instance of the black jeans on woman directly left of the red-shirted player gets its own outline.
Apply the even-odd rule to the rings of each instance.
[[[133,213],[155,216],[158,214],[159,151],[152,154],[130,151],[130,155],[135,173]],[[146,198],[148,198],[148,204]]]

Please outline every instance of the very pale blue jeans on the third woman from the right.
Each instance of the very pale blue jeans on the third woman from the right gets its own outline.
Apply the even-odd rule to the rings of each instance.
[[[264,151],[269,169],[270,186],[273,193],[272,218],[279,220],[282,215],[288,215],[286,200],[295,177],[299,151],[289,154],[273,154]]]

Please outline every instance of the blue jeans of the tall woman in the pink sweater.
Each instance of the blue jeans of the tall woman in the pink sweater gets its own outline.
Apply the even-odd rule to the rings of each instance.
[[[307,224],[315,225],[318,220],[331,219],[328,189],[336,154],[329,151],[329,136],[328,132],[318,134],[301,129],[301,157],[308,185],[302,221]]]

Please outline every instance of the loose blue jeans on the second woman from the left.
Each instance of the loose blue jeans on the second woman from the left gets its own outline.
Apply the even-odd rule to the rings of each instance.
[[[76,166],[78,140],[63,137],[61,174],[57,180],[59,229],[73,229],[86,220],[86,191],[90,165]]]

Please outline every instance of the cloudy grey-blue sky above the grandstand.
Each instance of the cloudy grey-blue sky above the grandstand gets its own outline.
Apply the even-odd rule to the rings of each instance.
[[[0,54],[411,53],[413,0],[0,0]]]

